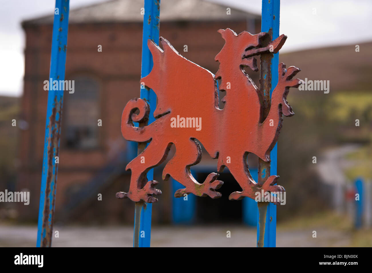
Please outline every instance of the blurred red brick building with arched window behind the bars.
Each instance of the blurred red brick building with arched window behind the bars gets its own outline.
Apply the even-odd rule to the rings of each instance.
[[[65,79],[75,81],[75,92],[64,95],[57,222],[133,221],[134,205],[115,199],[115,193],[129,188],[125,155],[130,149],[120,122],[126,102],[140,95],[141,7],[142,0],[113,0],[70,10]],[[203,0],[161,0],[160,36],[187,59],[215,73],[214,57],[224,45],[218,29],[260,32],[259,15],[234,8],[227,14],[227,8]],[[31,191],[30,205],[20,211],[30,220],[38,215],[48,95],[43,82],[49,78],[52,23],[53,16],[22,23],[26,34],[22,118],[29,129],[20,137],[17,181],[18,188]],[[97,126],[98,119],[102,127]],[[155,222],[171,221],[170,185],[163,182],[158,187],[163,195],[153,206]],[[102,201],[97,201],[98,193]]]

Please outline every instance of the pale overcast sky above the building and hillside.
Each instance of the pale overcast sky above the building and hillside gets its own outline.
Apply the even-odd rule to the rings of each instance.
[[[260,0],[209,1],[261,13]],[[52,14],[55,1],[0,2],[0,95],[20,96],[25,46],[20,22]],[[99,2],[104,0],[70,0],[70,9]],[[281,0],[280,5],[280,34],[288,36],[280,52],[372,40],[372,0]]]

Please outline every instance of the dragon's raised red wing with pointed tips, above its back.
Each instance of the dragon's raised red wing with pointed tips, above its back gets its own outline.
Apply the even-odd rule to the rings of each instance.
[[[214,74],[181,56],[163,37],[160,37],[160,42],[163,49],[148,40],[154,66],[150,74],[141,79],[147,88],[157,94],[154,116],[170,111],[181,113],[182,108],[197,108],[201,103],[218,108]]]

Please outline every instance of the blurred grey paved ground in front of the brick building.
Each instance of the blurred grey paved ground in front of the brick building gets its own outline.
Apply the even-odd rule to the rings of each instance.
[[[55,227],[59,238],[54,247],[132,247],[132,227]],[[231,238],[227,238],[227,231]],[[0,225],[0,247],[34,247],[35,226]],[[341,247],[350,243],[349,235],[341,231],[318,229],[291,230],[277,233],[278,247]],[[246,247],[256,246],[256,229],[244,226],[153,227],[152,247]]]

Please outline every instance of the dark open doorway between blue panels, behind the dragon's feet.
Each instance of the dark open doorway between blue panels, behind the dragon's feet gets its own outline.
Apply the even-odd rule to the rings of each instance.
[[[198,172],[196,179],[202,183],[209,173]],[[198,224],[206,223],[237,223],[242,222],[242,203],[239,201],[230,201],[229,195],[234,191],[241,191],[238,182],[228,170],[225,173],[220,173],[218,180],[224,182],[221,188],[217,191],[221,192],[222,197],[211,199],[210,197],[196,198],[196,222]]]

